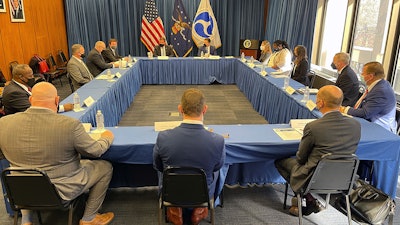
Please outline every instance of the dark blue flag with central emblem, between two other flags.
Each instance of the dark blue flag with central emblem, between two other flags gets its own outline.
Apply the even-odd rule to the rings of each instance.
[[[172,13],[171,44],[179,57],[186,57],[193,49],[192,22],[186,14],[182,0],[175,0]]]

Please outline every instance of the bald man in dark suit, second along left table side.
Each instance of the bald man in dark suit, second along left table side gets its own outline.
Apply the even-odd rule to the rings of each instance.
[[[101,52],[106,49],[106,44],[102,41],[96,42],[94,48],[89,52],[86,65],[93,76],[99,75],[105,69],[118,67],[118,62],[106,63]]]

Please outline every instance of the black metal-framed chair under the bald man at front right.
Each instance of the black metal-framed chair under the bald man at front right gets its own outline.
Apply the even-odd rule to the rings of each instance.
[[[346,197],[348,222],[351,224],[349,193],[357,174],[358,163],[359,160],[356,155],[333,155],[329,153],[322,157],[310,181],[304,186],[304,191],[297,193],[300,225],[303,223],[301,199],[307,193],[326,194],[325,209],[328,208],[331,194],[343,193]],[[284,209],[286,208],[287,192],[288,183],[286,183],[285,188]]]

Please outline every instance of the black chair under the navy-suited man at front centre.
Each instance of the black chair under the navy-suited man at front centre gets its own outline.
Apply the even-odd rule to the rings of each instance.
[[[162,211],[163,208],[166,211],[166,207],[207,207],[211,224],[214,224],[214,199],[208,196],[204,170],[193,167],[166,168],[159,199],[158,224],[162,224]]]

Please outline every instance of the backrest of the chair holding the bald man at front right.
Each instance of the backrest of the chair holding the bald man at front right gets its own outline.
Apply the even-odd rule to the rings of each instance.
[[[349,194],[358,164],[356,155],[324,155],[318,162],[304,193]]]

